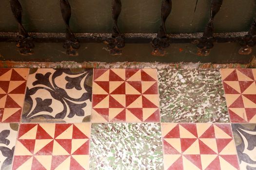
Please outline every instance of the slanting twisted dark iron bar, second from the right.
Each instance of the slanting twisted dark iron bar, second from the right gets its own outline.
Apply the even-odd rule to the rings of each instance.
[[[220,10],[222,6],[223,0],[212,0],[211,1],[211,18],[207,23],[203,36],[198,39],[197,43],[197,55],[199,56],[207,56],[210,54],[211,49],[214,47],[215,38],[213,36],[214,33],[214,17]]]

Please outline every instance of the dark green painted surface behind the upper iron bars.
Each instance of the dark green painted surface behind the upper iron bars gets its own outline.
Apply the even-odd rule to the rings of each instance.
[[[71,28],[75,33],[110,33],[111,0],[69,0]],[[167,20],[168,33],[202,32],[210,17],[211,0],[172,0],[173,11]],[[59,0],[20,0],[23,24],[28,32],[64,32]],[[161,0],[122,0],[119,26],[122,33],[157,33]],[[223,0],[216,16],[216,32],[248,31],[256,14],[255,0]],[[9,0],[0,1],[0,32],[16,32]]]

